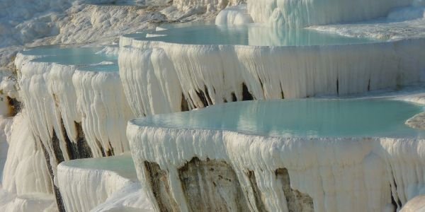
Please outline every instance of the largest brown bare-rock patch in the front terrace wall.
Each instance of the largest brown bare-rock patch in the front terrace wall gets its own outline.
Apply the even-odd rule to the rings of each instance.
[[[224,161],[192,158],[179,177],[189,211],[249,211],[237,175]]]

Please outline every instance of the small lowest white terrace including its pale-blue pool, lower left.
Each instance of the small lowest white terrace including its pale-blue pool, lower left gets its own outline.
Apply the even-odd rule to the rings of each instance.
[[[131,155],[71,160],[57,176],[67,211],[152,211]]]

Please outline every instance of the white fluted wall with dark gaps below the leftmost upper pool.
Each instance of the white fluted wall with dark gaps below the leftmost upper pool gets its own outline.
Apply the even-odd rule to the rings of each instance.
[[[72,59],[72,55],[65,57]],[[17,64],[21,67],[20,96],[30,133],[45,148],[50,170],[50,177],[35,179],[54,179],[57,165],[64,160],[129,151],[124,123],[132,114],[116,68],[106,72],[91,67],[76,71],[77,65],[57,64],[47,57],[45,61],[28,61],[32,58],[19,54],[16,61],[22,62]],[[62,206],[59,190],[55,192]]]

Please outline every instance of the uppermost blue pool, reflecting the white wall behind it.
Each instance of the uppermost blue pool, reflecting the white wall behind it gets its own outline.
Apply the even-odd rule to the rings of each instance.
[[[253,46],[311,46],[349,45],[379,42],[358,37],[344,37],[307,29],[274,29],[265,25],[215,25],[194,23],[164,25],[168,30],[145,31],[128,35],[138,40],[163,41],[186,45],[253,45]],[[147,34],[166,35],[147,37]]]

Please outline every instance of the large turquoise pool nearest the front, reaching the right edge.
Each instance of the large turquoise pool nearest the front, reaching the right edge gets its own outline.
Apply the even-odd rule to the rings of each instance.
[[[422,111],[420,105],[387,99],[272,100],[232,102],[134,122],[140,126],[215,129],[260,136],[422,138],[425,131],[404,124]]]

